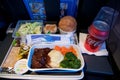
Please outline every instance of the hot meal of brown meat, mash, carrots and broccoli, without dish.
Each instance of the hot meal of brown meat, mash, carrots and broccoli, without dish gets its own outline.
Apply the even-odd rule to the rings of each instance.
[[[55,46],[50,48],[35,48],[31,60],[31,68],[72,68],[78,69],[81,61],[73,46]]]

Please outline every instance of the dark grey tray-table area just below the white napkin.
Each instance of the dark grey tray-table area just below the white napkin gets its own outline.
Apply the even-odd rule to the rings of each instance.
[[[112,67],[106,56],[84,55],[83,57],[87,72],[113,75]]]

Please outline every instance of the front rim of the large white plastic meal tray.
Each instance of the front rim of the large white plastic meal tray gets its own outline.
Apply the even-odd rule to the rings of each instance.
[[[17,74],[0,74],[2,78],[9,79],[38,79],[38,80],[80,80],[84,77],[84,72],[80,74],[73,75],[36,75],[36,74],[26,74],[26,75],[17,75]]]

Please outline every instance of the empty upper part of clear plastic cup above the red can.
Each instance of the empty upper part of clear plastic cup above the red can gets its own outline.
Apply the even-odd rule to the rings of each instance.
[[[100,20],[106,22],[110,27],[112,27],[116,21],[119,12],[111,7],[102,7],[95,17],[94,21]]]

